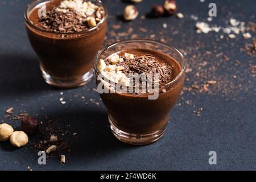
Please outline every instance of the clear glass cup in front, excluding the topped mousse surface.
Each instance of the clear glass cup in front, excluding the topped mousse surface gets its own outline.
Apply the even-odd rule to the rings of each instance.
[[[98,79],[98,75],[100,75],[98,61],[125,49],[158,51],[172,57],[180,66],[180,72],[173,80],[159,85],[159,96],[156,100],[148,100],[147,94],[134,95],[118,92],[100,94],[101,100],[108,109],[109,123],[114,136],[125,143],[150,144],[160,139],[166,130],[170,111],[183,88],[185,59],[174,47],[154,40],[134,39],[118,42],[103,49],[94,61],[97,85],[102,82],[101,79]],[[106,80],[108,79],[104,78],[104,81]],[[108,88],[114,87],[113,83],[110,83],[110,87],[108,86]]]

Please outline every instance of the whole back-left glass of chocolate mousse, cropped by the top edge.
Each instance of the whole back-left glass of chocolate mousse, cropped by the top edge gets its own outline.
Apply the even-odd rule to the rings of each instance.
[[[93,76],[93,62],[104,42],[108,21],[101,1],[32,1],[24,19],[49,85],[75,88]]]

